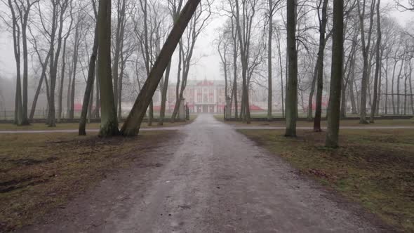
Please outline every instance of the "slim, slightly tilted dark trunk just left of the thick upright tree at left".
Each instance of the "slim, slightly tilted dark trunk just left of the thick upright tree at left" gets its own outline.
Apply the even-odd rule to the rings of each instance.
[[[98,26],[98,25],[97,25]],[[98,54],[98,27],[95,28],[95,38],[93,39],[93,47],[91,60],[89,60],[88,80],[86,81],[86,89],[84,95],[84,103],[82,104],[81,119],[79,121],[79,135],[86,135],[86,117],[88,116],[89,102],[91,101],[91,92],[93,89],[93,78],[95,74],[96,55]],[[93,99],[92,99],[93,100]]]

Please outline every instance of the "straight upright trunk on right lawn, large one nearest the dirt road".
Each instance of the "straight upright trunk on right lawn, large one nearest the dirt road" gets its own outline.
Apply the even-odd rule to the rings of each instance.
[[[288,88],[286,90],[286,137],[296,137],[298,118],[298,51],[296,51],[296,6],[287,3]]]

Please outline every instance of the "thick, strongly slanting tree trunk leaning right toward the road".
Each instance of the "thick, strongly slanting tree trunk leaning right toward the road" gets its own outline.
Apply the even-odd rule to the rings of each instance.
[[[159,81],[161,81],[163,73],[171,60],[171,56],[173,55],[175,48],[177,48],[178,42],[200,1],[201,0],[187,1],[187,4],[180,13],[180,17],[175,21],[174,27],[152,67],[148,79],[145,81],[131,113],[128,115],[128,118],[122,126],[122,135],[132,136],[138,134],[140,124],[142,123],[148,105],[152,100],[152,96],[154,95],[156,88],[159,85]]]

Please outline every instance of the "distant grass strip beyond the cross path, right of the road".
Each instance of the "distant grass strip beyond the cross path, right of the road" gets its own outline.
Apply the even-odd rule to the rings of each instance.
[[[219,118],[216,116],[216,119],[222,121],[222,117]],[[274,127],[285,127],[285,121],[252,121],[251,124],[244,124],[241,121],[225,121],[227,124],[231,124],[234,126],[274,126]],[[359,120],[345,120],[341,121],[341,126],[359,126],[359,127],[373,127],[373,126],[414,126],[414,119],[409,120],[376,120],[375,124],[367,124],[361,125],[359,124]],[[313,121],[298,121],[298,127],[313,127]],[[321,121],[321,126],[326,127],[327,121]]]

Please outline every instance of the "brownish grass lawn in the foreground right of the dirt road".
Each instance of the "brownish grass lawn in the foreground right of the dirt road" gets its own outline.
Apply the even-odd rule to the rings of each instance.
[[[325,133],[242,130],[300,173],[335,189],[389,225],[414,232],[414,131],[342,130],[339,149],[323,147]]]

